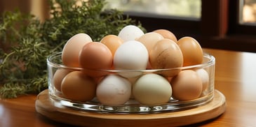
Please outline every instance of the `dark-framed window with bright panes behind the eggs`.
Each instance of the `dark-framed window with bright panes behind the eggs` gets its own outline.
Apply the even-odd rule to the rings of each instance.
[[[149,7],[144,9],[143,6],[150,4],[150,2],[143,3],[144,1],[146,0],[112,2],[112,7],[121,6],[119,9],[123,8],[123,11],[130,17],[142,22],[147,31],[169,29],[175,33],[177,38],[193,36],[203,47],[256,52],[256,22],[249,22],[245,18],[246,15],[243,14],[245,13],[245,6],[250,6],[252,10],[256,8],[254,7],[256,0],[162,0],[161,2],[154,0],[155,3],[152,3],[159,6],[154,8],[161,8],[159,10],[161,12],[164,11],[164,8],[161,7],[162,2],[166,3],[165,6],[168,4],[181,6],[184,1],[191,2],[190,5],[196,9],[189,10],[189,12],[196,12],[194,15],[189,15],[189,13],[184,15],[186,12],[184,8],[190,8],[188,6],[180,7],[178,12],[159,14],[154,9],[148,10]],[[132,7],[126,8],[126,6]],[[184,12],[179,12],[182,10]],[[198,12],[200,14],[197,14]],[[252,14],[252,17],[256,18],[256,13]]]

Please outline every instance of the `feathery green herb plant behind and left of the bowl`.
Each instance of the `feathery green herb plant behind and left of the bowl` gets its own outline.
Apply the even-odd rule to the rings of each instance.
[[[103,10],[105,1],[49,1],[50,18],[5,12],[0,17],[0,98],[38,94],[48,88],[46,58],[61,52],[76,33],[87,33],[94,41],[117,35],[128,24],[140,22],[119,10]],[[142,28],[143,29],[143,28]],[[7,46],[6,46],[7,45]]]

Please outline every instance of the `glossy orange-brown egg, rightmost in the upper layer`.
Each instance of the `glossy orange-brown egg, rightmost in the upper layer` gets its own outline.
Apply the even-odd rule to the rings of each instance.
[[[183,54],[183,66],[193,66],[203,61],[203,50],[198,41],[189,36],[180,38],[177,41]]]

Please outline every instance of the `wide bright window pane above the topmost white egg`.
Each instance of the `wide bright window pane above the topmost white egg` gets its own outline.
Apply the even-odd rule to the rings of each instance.
[[[201,18],[201,0],[106,0],[106,8],[150,15]]]

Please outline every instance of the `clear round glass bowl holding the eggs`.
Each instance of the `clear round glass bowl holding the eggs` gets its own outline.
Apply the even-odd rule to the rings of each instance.
[[[153,112],[176,112],[180,110],[188,110],[201,105],[209,103],[214,96],[214,82],[215,82],[215,57],[206,52],[203,53],[203,63],[194,66],[185,66],[180,68],[169,69],[147,69],[147,70],[86,70],[83,68],[72,68],[64,66],[61,61],[61,52],[50,55],[47,58],[48,66],[48,94],[50,99],[58,102],[65,107],[72,107],[75,110],[86,112],[109,112],[109,113],[153,113]],[[56,89],[53,82],[53,77],[57,70],[64,69],[68,71],[82,71],[90,72],[105,77],[107,75],[119,75],[132,81],[142,75],[154,73],[162,75],[164,73],[172,73],[180,70],[196,70],[204,69],[208,73],[208,87],[201,91],[201,96],[193,100],[177,100],[170,97],[168,103],[161,103],[158,105],[143,105],[135,98],[130,98],[123,105],[103,105],[95,96],[92,100],[88,101],[75,101],[65,98],[62,92]],[[98,78],[98,77],[97,77]],[[169,79],[171,77],[165,77]],[[133,84],[133,82],[132,82]]]

